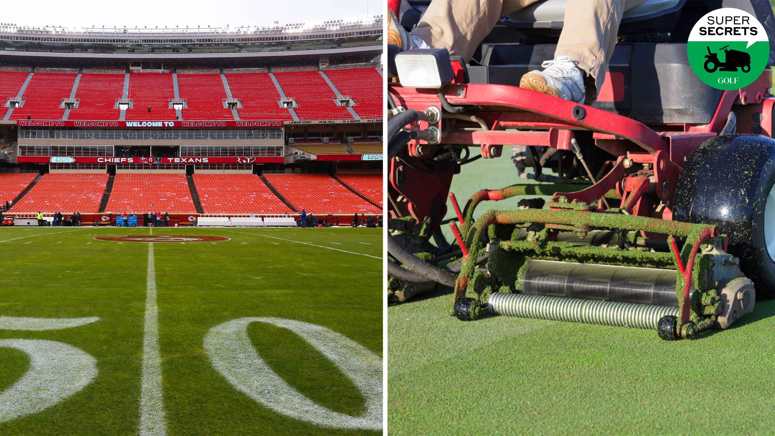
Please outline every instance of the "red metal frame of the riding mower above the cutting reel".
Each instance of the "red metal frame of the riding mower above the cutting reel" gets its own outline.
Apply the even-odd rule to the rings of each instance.
[[[443,133],[440,144],[412,140],[408,146],[410,157],[407,158],[416,157],[412,162],[431,159],[437,147],[446,144],[478,145],[485,158],[500,156],[506,144],[570,150],[570,141],[577,135],[574,130],[590,130],[595,144],[617,157],[613,168],[587,189],[580,192],[557,192],[553,200],[564,196],[569,202],[577,199],[590,204],[601,199],[608,190],[617,189],[625,197],[620,206],[626,211],[640,216],[670,219],[675,185],[686,157],[705,140],[721,132],[731,110],[739,114],[738,133],[759,129],[753,122],[756,112],[761,114],[759,126],[762,133],[768,136],[773,133],[775,98],[767,94],[770,85],[768,68],[752,85],[737,91],[723,92],[709,123],[660,124],[652,128],[612,112],[515,86],[453,83],[440,90],[444,99],[450,105],[465,107],[467,115],[477,116],[488,129],[464,129],[478,128],[479,124],[443,118],[442,123],[438,124]],[[442,106],[437,89],[403,88],[391,84],[388,92],[399,106],[406,109],[422,110],[429,106]],[[758,119],[759,116],[756,117]],[[422,122],[415,128],[425,129],[428,126],[428,123]],[[418,153],[418,145],[422,145],[422,153]],[[632,161],[626,161],[628,159]],[[625,161],[630,163],[625,165]],[[639,171],[641,165],[634,164],[648,164],[649,167]],[[394,180],[394,167],[391,162],[391,182]],[[425,219],[424,213],[430,211],[427,203],[419,206],[417,202],[429,202],[437,195],[446,196],[452,173],[418,176],[412,184],[405,183],[403,189],[396,190],[412,203],[412,216],[420,222]],[[395,189],[393,183],[391,188]],[[601,202],[598,203],[598,211],[605,209],[603,206]],[[661,211],[657,210],[658,206],[662,208]],[[443,209],[446,210],[446,207]],[[440,221],[440,217],[436,219]]]

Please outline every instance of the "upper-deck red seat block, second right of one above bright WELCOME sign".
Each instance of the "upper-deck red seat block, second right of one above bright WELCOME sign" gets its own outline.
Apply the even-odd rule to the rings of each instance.
[[[280,107],[280,93],[269,73],[226,74],[232,97],[239,99],[242,109],[237,109],[240,119],[293,119],[288,109]]]

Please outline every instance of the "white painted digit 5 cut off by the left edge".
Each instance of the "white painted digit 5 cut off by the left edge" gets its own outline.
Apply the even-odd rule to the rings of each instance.
[[[0,317],[0,330],[60,330],[93,323],[99,318]],[[0,393],[0,423],[36,414],[84,389],[97,376],[97,361],[80,348],[55,341],[0,340],[29,356],[29,370]]]

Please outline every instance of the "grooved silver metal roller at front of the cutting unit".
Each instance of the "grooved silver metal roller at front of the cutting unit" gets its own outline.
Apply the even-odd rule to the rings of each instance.
[[[678,316],[677,307],[505,292],[493,292],[487,307],[494,315],[654,330],[661,317]]]

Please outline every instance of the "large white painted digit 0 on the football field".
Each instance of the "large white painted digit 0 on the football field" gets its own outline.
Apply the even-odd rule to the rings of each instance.
[[[287,328],[315,347],[360,389],[366,398],[366,413],[360,417],[339,414],[288,385],[253,348],[247,335],[250,323]],[[382,429],[382,359],[333,330],[283,318],[239,318],[212,327],[205,336],[205,351],[232,386],[280,414],[325,427]]]

